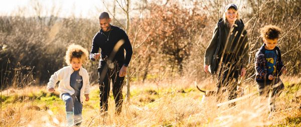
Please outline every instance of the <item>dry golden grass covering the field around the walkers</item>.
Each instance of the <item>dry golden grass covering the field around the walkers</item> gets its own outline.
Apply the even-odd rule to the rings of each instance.
[[[90,101],[84,103],[82,127],[268,127],[300,126],[300,91],[294,85],[299,78],[286,78],[285,89],[277,99],[276,112],[269,114],[267,103],[256,94],[255,84],[244,84],[245,95],[235,107],[217,107],[216,98],[203,94],[192,82],[177,80],[171,83],[136,83],[131,87],[131,101],[124,102],[120,116],[114,115],[114,101],[109,100],[108,116],[99,112],[98,86],[92,86]],[[289,81],[289,82],[288,82]],[[210,84],[210,81],[199,85]],[[207,87],[214,89],[213,83]],[[246,87],[248,86],[248,87]],[[204,86],[203,86],[204,87]],[[13,92],[14,91],[14,92]],[[23,90],[8,89],[3,96],[20,96],[45,91],[45,87],[28,87]],[[124,87],[123,92],[126,89]],[[255,94],[255,95],[254,95]],[[110,94],[112,95],[112,94]],[[61,99],[36,99],[15,101],[1,105],[1,127],[63,127],[66,124],[65,108]],[[46,101],[45,101],[46,100]],[[226,99],[224,99],[225,101]]]

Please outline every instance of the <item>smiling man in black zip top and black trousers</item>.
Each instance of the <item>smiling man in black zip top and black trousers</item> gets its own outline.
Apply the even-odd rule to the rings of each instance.
[[[90,59],[99,60],[98,84],[100,89],[100,111],[107,114],[110,82],[112,82],[115,100],[115,114],[119,115],[122,107],[122,86],[126,68],[132,56],[132,47],[128,36],[121,28],[110,24],[111,18],[107,12],[99,15],[100,30],[92,41]],[[98,53],[99,48],[101,49]],[[124,50],[126,52],[124,58]]]

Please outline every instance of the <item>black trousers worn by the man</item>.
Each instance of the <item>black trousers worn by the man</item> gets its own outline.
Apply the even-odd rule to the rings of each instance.
[[[100,90],[100,111],[108,111],[108,97],[110,93],[110,83],[112,82],[113,97],[115,100],[116,114],[120,114],[122,108],[122,87],[124,77],[119,77],[119,71],[122,64],[117,62],[111,65],[104,64],[98,68],[98,84]]]

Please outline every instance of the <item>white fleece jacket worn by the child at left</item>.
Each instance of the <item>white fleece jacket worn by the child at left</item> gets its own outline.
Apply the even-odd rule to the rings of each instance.
[[[54,88],[56,83],[60,81],[59,83],[59,92],[60,92],[60,98],[62,99],[62,94],[68,93],[70,95],[73,95],[75,93],[74,89],[70,86],[70,76],[74,72],[72,69],[72,66],[66,66],[62,69],[55,72],[49,79],[49,82],[47,84],[47,90],[49,88]],[[86,69],[83,67],[79,70],[79,75],[83,78],[83,86],[80,89],[80,102],[83,103],[83,95],[89,94],[90,92],[90,82],[89,82],[89,74]]]

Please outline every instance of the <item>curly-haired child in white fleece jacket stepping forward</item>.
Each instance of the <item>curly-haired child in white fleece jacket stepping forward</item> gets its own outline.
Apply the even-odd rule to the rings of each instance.
[[[71,44],[66,51],[65,60],[69,66],[55,72],[47,84],[48,92],[55,91],[58,81],[60,98],[66,106],[67,126],[80,126],[82,122],[83,95],[89,101],[89,75],[82,67],[88,57],[88,51],[80,45]]]

